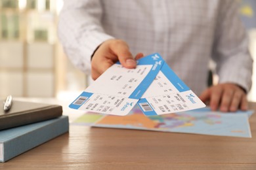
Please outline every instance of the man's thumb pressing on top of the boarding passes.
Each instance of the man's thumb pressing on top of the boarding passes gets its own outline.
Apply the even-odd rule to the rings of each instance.
[[[112,52],[116,54],[118,60],[120,61],[121,65],[123,65],[123,67],[126,67],[128,69],[133,69],[136,67],[137,62],[133,58],[133,55],[129,50],[129,46],[125,42],[115,41],[111,44],[110,48]]]

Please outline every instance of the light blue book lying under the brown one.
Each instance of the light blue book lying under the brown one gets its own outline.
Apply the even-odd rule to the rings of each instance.
[[[69,129],[68,116],[0,131],[0,162],[45,143]]]

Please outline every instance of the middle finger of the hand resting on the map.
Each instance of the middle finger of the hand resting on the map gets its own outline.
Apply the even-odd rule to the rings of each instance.
[[[230,88],[224,89],[223,95],[221,96],[221,105],[220,105],[220,110],[222,112],[227,112],[228,109],[230,108],[233,95],[234,95],[234,90]]]

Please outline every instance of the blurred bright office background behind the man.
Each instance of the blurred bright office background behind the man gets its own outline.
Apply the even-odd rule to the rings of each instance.
[[[239,3],[255,61],[248,100],[256,101],[256,1]],[[90,76],[75,69],[58,41],[62,6],[63,0],[0,0],[0,99],[12,95],[72,100],[89,85]]]

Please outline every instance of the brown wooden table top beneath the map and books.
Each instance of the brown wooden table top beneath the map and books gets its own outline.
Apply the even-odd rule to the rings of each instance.
[[[256,113],[249,122],[251,139],[70,126],[0,169],[256,169]]]

